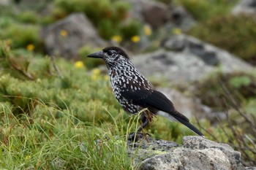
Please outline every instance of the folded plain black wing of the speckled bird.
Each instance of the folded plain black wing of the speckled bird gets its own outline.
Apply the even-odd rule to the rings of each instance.
[[[157,109],[163,112],[170,113],[173,117],[180,117],[185,121],[189,121],[187,117],[173,107],[173,103],[161,92],[157,90],[124,90],[121,96],[127,100],[132,100],[135,104],[149,109]]]

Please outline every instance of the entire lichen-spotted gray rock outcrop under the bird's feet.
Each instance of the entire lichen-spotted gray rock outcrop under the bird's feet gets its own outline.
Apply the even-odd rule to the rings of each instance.
[[[184,144],[148,138],[128,143],[129,152],[136,153],[135,163],[141,170],[149,169],[246,169],[241,153],[227,144],[219,144],[200,136],[184,136]],[[132,147],[134,146],[134,147]],[[138,147],[140,146],[140,147]]]

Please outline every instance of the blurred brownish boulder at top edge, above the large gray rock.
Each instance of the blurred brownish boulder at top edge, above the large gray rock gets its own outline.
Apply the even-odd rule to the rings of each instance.
[[[170,28],[187,29],[195,23],[192,16],[181,6],[152,0],[128,1],[132,4],[130,17],[148,23],[154,29],[164,25],[167,25],[167,31],[170,31]]]

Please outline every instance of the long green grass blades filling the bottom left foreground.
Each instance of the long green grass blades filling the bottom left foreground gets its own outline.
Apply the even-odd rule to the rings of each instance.
[[[69,109],[58,109],[54,104],[49,109],[46,104],[37,103],[36,109],[44,112],[18,117],[12,115],[10,107],[0,105],[1,168],[135,168],[132,158],[127,156],[127,142],[119,129],[121,123],[116,119],[115,125],[97,127],[78,120]]]

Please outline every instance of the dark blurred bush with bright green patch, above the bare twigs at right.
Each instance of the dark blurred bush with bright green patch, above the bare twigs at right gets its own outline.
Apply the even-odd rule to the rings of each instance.
[[[195,96],[200,97],[203,104],[217,110],[223,110],[223,106],[231,104],[225,96],[228,91],[236,96],[238,104],[243,104],[250,98],[256,98],[256,76],[244,72],[231,74],[212,74],[201,82],[196,82]],[[211,89],[211,90],[210,90]],[[227,103],[226,103],[227,102]]]

